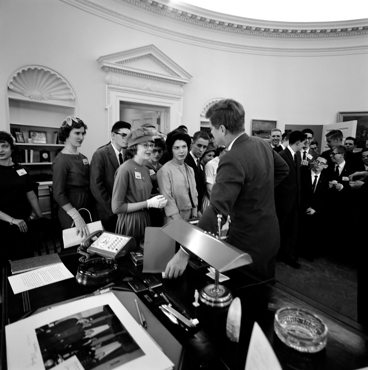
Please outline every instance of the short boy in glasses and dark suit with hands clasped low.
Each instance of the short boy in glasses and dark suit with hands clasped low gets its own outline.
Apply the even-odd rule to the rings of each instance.
[[[322,239],[320,236],[310,238],[305,236],[312,227],[324,223],[324,211],[327,201],[328,177],[321,173],[327,165],[327,158],[318,156],[313,161],[313,168],[301,171],[301,198],[298,227],[298,248],[300,256],[313,262],[320,250]],[[321,223],[320,223],[321,222]]]

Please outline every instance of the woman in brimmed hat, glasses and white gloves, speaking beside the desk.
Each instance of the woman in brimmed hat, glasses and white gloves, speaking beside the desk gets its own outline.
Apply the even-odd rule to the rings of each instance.
[[[134,236],[141,246],[145,228],[151,226],[148,208],[163,208],[167,203],[163,195],[151,198],[152,183],[145,161],[155,146],[153,135],[151,130],[141,127],[126,137],[132,159],[117,169],[111,199],[112,212],[118,215],[115,232]]]

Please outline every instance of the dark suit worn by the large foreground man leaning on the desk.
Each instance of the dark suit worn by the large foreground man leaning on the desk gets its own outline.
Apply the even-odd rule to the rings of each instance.
[[[263,275],[267,272],[262,266],[276,255],[280,243],[274,184],[287,173],[287,164],[270,144],[244,133],[220,159],[210,205],[197,225],[216,233],[217,214],[224,220],[230,214],[227,242],[249,253],[250,267]]]

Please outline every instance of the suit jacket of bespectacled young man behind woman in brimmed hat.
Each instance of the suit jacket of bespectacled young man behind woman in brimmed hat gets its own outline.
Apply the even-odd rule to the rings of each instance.
[[[111,196],[118,167],[119,162],[111,142],[94,152],[90,165],[90,188],[95,198],[95,208],[108,212],[109,216],[114,215],[111,209]]]

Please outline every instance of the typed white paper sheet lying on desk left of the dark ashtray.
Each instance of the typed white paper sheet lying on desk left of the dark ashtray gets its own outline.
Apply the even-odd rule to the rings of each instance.
[[[40,286],[49,285],[58,281],[74,277],[65,267],[64,263],[56,263],[40,269],[27,271],[21,274],[9,276],[9,283],[14,294],[26,292]]]

